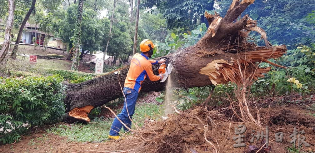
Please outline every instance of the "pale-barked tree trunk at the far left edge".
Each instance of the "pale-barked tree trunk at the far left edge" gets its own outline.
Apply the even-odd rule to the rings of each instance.
[[[5,35],[4,35],[3,47],[0,51],[1,67],[6,65],[6,57],[7,57],[8,51],[10,50],[10,45],[11,45],[11,31],[12,31],[12,27],[13,27],[14,9],[15,9],[14,0],[9,0],[8,5],[9,5],[9,7],[8,7],[9,8],[9,12],[8,12],[9,16],[8,16],[7,24],[5,26]]]

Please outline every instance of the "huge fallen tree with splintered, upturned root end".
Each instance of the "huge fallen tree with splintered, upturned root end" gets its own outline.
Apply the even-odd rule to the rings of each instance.
[[[259,68],[260,62],[274,64],[268,59],[278,58],[286,53],[286,46],[272,46],[266,32],[257,27],[257,22],[245,15],[238,16],[254,3],[254,0],[233,0],[226,16],[205,13],[209,22],[207,33],[194,45],[182,49],[167,57],[173,59],[172,78],[180,87],[200,87],[227,82],[239,84],[244,79],[255,80],[263,77],[269,68]],[[257,46],[247,41],[248,33],[256,31],[261,34],[266,46]],[[280,66],[281,67],[281,66]],[[156,66],[152,67],[156,75]],[[68,84],[66,89],[66,115],[64,121],[87,121],[87,113],[93,108],[122,96],[121,85],[127,75],[129,66],[120,68],[119,73],[79,83]],[[244,77],[249,76],[249,77]],[[247,81],[250,82],[250,81]],[[162,91],[165,83],[143,82],[141,92]]]

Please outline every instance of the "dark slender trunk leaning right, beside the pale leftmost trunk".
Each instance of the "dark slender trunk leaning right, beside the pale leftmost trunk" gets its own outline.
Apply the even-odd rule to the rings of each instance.
[[[13,51],[12,51],[12,54],[11,54],[11,58],[12,59],[16,58],[16,53],[17,53],[18,48],[19,48],[19,44],[20,44],[20,41],[21,41],[21,36],[22,36],[22,33],[23,33],[24,26],[25,26],[28,18],[30,17],[31,13],[33,12],[33,10],[35,8],[35,3],[36,3],[36,0],[32,0],[31,7],[28,10],[28,12],[26,13],[25,18],[24,18],[24,20],[23,20],[23,22],[22,22],[22,24],[20,26],[18,37],[16,37],[15,45],[14,45],[14,48],[13,48]]]

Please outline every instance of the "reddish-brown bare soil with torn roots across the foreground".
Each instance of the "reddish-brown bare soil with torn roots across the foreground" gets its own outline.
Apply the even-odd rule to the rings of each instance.
[[[145,99],[148,96],[142,95],[142,97]],[[141,97],[139,100],[141,101]],[[171,114],[165,121],[147,122],[142,127],[143,132],[135,132],[124,140],[110,140],[102,143],[68,142],[67,138],[39,130],[32,131],[29,136],[23,136],[18,143],[0,146],[0,152],[117,152],[117,150],[125,150],[126,152],[200,153],[213,151],[209,142],[219,152],[256,152],[261,149],[266,140],[255,139],[254,142],[250,140],[258,131],[265,133],[265,126],[269,127],[269,147],[262,148],[259,152],[288,152],[287,148],[292,146],[290,141],[294,139],[290,135],[295,128],[297,132],[300,132],[296,135],[297,140],[305,136],[305,142],[310,144],[309,147],[303,144],[300,151],[315,152],[314,98],[310,98],[309,95],[307,97],[299,95],[264,97],[258,100],[258,104],[258,107],[262,107],[261,121],[265,123],[262,127],[257,127],[253,123],[239,122],[229,107],[207,110],[195,107],[180,112],[182,115]],[[242,134],[244,135],[243,143],[246,146],[235,148],[233,138],[238,136],[235,128],[241,124],[247,128]],[[304,133],[301,132],[302,130]],[[283,140],[276,142],[275,133],[279,132],[283,133]],[[298,143],[297,140],[296,143]]]

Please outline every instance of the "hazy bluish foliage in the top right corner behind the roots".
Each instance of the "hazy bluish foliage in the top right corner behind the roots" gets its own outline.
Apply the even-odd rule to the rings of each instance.
[[[258,26],[266,31],[272,44],[288,44],[289,49],[294,49],[295,44],[309,45],[315,39],[312,21],[314,8],[315,3],[309,0],[256,0],[243,14],[249,14],[254,20],[258,20]],[[259,39],[259,34],[254,35]],[[260,43],[264,44],[263,40]]]

